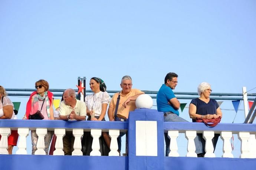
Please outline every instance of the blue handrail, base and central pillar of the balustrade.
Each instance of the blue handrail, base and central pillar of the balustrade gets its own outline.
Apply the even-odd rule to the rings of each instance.
[[[1,120],[0,128],[47,128],[48,130],[91,129],[128,130],[128,156],[47,156],[47,155],[0,155],[1,169],[111,169],[111,170],[148,170],[148,169],[212,169],[210,164],[218,165],[218,170],[252,169],[256,159],[249,158],[197,158],[197,157],[164,157],[163,132],[198,133],[213,131],[214,133],[231,132],[241,138],[241,154],[255,152],[255,142],[249,146],[246,135],[256,133],[255,124],[219,123],[214,128],[208,128],[203,123],[163,122],[163,113],[153,109],[136,109],[130,112],[128,122],[93,122],[93,121],[63,121],[63,120]],[[245,137],[243,136],[245,134]],[[225,138],[225,136],[221,136]],[[1,139],[2,140],[2,139]],[[174,139],[171,139],[174,140]],[[221,139],[219,139],[221,142]],[[0,142],[1,143],[1,142]],[[226,144],[230,141],[227,142]],[[193,142],[192,142],[193,145]],[[247,146],[246,146],[247,145]],[[137,147],[140,146],[140,147]],[[1,147],[1,146],[0,146]],[[172,147],[172,146],[171,146]],[[228,148],[228,147],[227,147]],[[188,149],[191,150],[191,149]],[[193,147],[192,147],[193,150]],[[223,150],[224,144],[223,144]],[[228,150],[228,149],[227,149]],[[252,152],[252,153],[253,153]],[[253,154],[247,154],[253,155]],[[248,156],[250,157],[250,156]],[[228,165],[228,166],[227,166]]]

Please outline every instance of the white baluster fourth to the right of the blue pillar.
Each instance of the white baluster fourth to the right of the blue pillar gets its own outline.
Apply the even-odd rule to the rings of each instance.
[[[223,155],[222,157],[231,157],[233,158],[232,147],[230,139],[232,138],[232,132],[221,132],[220,138],[223,140]]]

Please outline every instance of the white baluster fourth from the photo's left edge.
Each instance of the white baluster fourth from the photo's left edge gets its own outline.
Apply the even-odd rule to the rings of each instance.
[[[64,155],[63,152],[63,136],[65,135],[65,129],[54,129],[54,133],[56,135],[56,143],[55,143],[55,151],[53,151],[53,155]]]

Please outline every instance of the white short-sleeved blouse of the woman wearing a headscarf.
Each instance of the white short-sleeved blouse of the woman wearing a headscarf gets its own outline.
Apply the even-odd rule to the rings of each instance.
[[[108,104],[110,102],[110,96],[108,92],[92,93],[85,97],[85,105],[88,110],[94,110],[95,116],[101,115],[102,104]]]

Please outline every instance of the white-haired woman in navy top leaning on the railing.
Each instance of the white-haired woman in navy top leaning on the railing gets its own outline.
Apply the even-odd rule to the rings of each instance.
[[[192,122],[196,122],[196,118],[204,118],[204,119],[216,119],[218,117],[222,117],[222,113],[220,110],[220,106],[216,100],[210,99],[210,94],[212,92],[211,85],[207,82],[202,82],[198,85],[197,88],[199,98],[193,99],[189,105],[189,116],[192,119]],[[205,140],[203,139],[203,135],[201,133],[197,134],[199,140],[202,143],[202,153],[197,154],[197,157],[203,157],[205,154],[204,145]],[[220,134],[214,134],[214,138],[212,139],[213,147],[215,150],[218,138]]]

